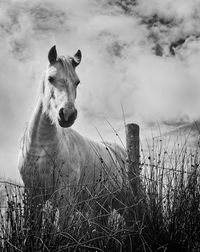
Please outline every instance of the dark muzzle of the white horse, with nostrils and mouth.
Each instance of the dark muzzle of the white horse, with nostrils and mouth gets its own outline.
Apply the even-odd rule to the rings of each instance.
[[[68,128],[72,126],[77,118],[77,110],[75,108],[64,109],[61,108],[59,110],[59,118],[58,123],[63,128]]]

